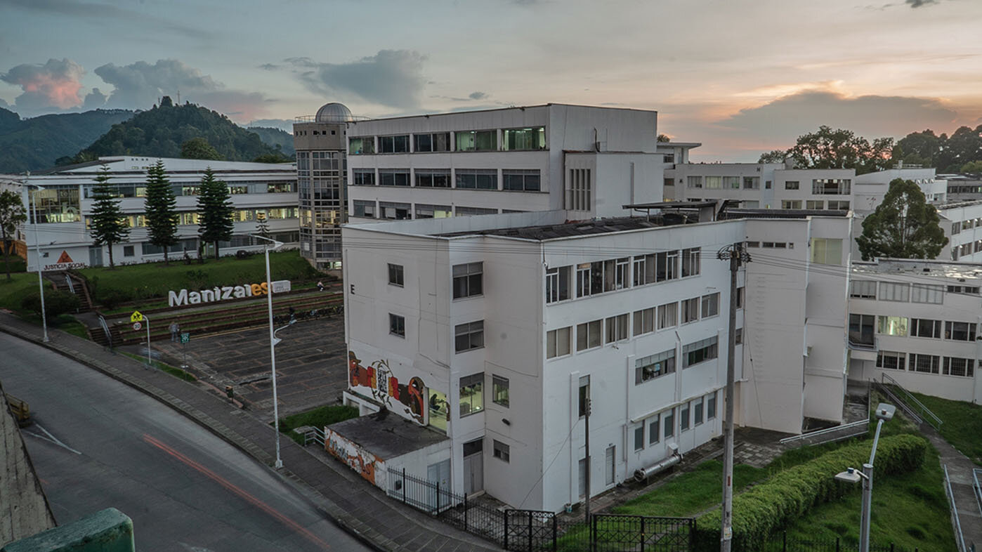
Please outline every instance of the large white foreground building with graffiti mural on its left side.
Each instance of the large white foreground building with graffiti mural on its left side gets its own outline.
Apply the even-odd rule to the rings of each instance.
[[[847,213],[686,216],[346,225],[345,400],[447,436],[425,455],[364,454],[359,469],[445,473],[456,492],[558,511],[587,492],[587,399],[591,495],[720,435],[730,263],[716,253],[735,243],[752,256],[738,273],[736,421],[841,421]]]

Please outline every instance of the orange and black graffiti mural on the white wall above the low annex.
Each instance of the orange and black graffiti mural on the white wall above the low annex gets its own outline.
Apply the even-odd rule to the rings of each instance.
[[[348,352],[348,374],[348,383],[352,387],[369,389],[372,399],[387,409],[396,411],[394,407],[398,404],[403,414],[425,424],[423,415],[426,402],[423,397],[426,396],[426,386],[422,379],[412,376],[408,383],[400,383],[399,378],[392,374],[388,360],[375,360],[366,366],[354,351]]]

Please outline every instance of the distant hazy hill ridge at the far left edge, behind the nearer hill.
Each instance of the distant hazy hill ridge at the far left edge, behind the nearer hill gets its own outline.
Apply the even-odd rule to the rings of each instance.
[[[0,108],[0,173],[23,173],[54,166],[55,159],[74,155],[101,137],[133,111],[96,109],[84,113],[41,115],[32,119]]]

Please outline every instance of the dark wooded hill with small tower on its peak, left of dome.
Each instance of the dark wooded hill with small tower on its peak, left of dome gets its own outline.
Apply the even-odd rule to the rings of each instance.
[[[228,117],[198,105],[163,105],[137,113],[133,119],[113,125],[102,138],[82,149],[75,161],[104,155],[148,155],[181,157],[181,144],[191,138],[204,138],[227,161],[251,161],[277,153],[258,135],[246,131]]]

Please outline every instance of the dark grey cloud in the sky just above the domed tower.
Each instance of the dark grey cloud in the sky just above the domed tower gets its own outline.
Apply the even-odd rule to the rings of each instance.
[[[413,50],[380,50],[351,63],[317,63],[310,58],[286,61],[309,69],[298,73],[298,79],[310,91],[324,95],[350,93],[381,105],[411,108],[419,105],[425,60]]]

